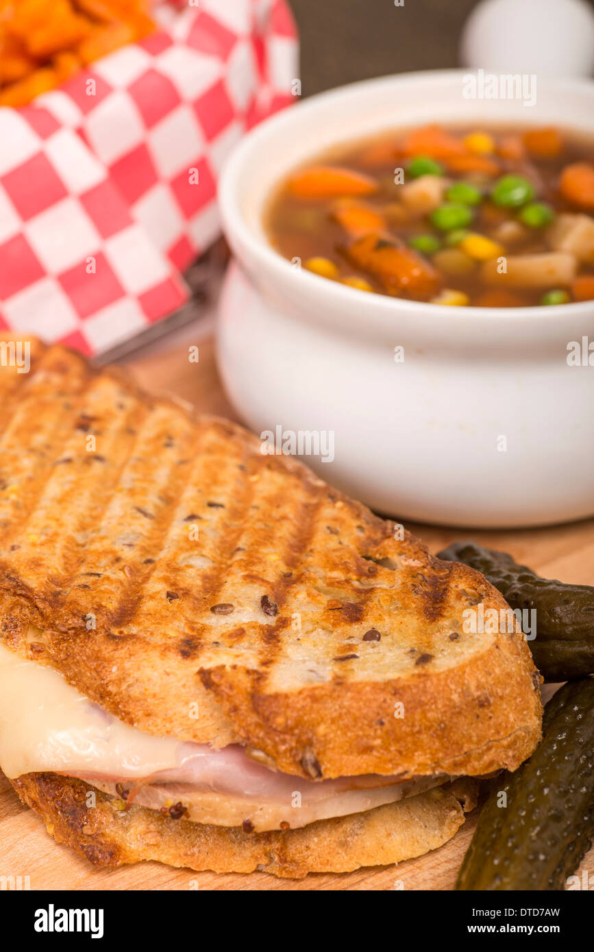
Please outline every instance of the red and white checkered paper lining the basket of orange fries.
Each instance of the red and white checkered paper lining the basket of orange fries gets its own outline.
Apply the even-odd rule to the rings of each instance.
[[[145,40],[0,109],[0,328],[92,355],[180,307],[181,272],[220,233],[229,149],[294,101],[285,0],[156,15]]]

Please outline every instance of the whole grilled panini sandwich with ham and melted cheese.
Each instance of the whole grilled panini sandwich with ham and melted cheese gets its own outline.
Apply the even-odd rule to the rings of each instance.
[[[482,575],[65,348],[0,368],[0,527],[0,765],[92,863],[397,863],[540,739]]]

